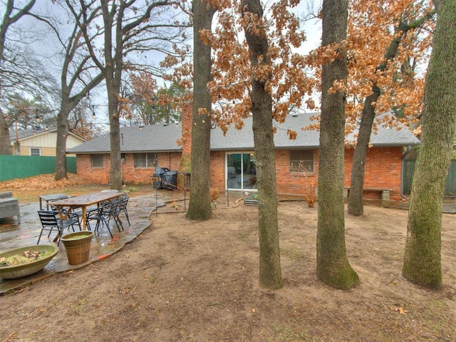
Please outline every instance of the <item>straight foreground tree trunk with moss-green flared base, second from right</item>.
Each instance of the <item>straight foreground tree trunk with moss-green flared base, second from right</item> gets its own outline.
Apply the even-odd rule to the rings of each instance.
[[[323,0],[322,46],[346,39],[348,0]],[[318,171],[317,266],[318,279],[339,289],[358,283],[346,254],[343,207],[343,160],[346,93],[328,93],[334,81],[347,80],[346,49],[323,64]]]

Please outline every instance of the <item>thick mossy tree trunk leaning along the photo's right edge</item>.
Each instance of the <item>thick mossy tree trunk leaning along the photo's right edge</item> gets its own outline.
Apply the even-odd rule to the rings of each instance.
[[[423,135],[410,195],[403,275],[438,289],[442,286],[443,196],[456,125],[456,2],[435,3],[437,24],[426,75]]]

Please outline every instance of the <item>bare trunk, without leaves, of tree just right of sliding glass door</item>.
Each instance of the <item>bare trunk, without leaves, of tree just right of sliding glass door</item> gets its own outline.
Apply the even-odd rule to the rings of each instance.
[[[263,10],[259,0],[242,1],[244,12],[257,14],[261,20]],[[252,26],[256,27],[257,23]],[[252,68],[252,114],[255,157],[257,159],[258,229],[259,229],[259,284],[269,289],[283,286],[280,266],[279,222],[277,217],[276,159],[274,130],[272,127],[272,98],[265,89],[268,78],[255,75],[254,67],[269,63],[269,43],[264,31],[244,32],[249,45]],[[261,58],[260,58],[261,56]]]

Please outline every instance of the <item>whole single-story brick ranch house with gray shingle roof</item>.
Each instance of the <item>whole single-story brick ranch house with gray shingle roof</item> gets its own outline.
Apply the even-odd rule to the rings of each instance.
[[[190,113],[189,113],[190,112]],[[125,127],[121,132],[122,174],[125,182],[147,183],[153,181],[155,167],[179,171],[177,186],[183,183],[181,172],[191,172],[191,138],[182,138],[182,131],[191,129],[191,107],[182,114],[182,123],[146,125],[143,128]],[[316,186],[318,177],[319,133],[301,131],[311,123],[315,113],[289,115],[285,123],[276,126],[277,192],[283,195],[304,195],[306,189]],[[182,129],[183,128],[183,129]],[[296,140],[289,140],[288,129],[296,130]],[[400,199],[401,170],[405,147],[419,144],[418,138],[408,128],[379,127],[371,135],[371,148],[366,158],[366,197],[380,197],[377,189],[387,189],[391,199]],[[226,136],[215,128],[211,132],[211,187],[221,191],[254,191],[256,165],[252,118],[245,120],[242,130],[229,129]],[[110,142],[108,135],[95,138],[73,147],[68,153],[76,154],[77,173],[90,182],[108,183],[110,172]],[[345,186],[350,186],[353,148],[346,149]],[[305,167],[298,167],[299,165]]]

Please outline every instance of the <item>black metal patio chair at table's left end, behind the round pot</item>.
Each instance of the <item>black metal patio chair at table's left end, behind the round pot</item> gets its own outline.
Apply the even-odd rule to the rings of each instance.
[[[38,210],[38,216],[41,221],[41,232],[38,237],[38,242],[40,243],[41,235],[43,232],[48,231],[48,238],[51,236],[51,233],[56,230],[56,239],[57,244],[60,244],[61,237],[63,235],[63,230],[73,229],[75,232],[75,226],[81,230],[81,221],[78,214],[74,212],[63,212],[57,210]]]

